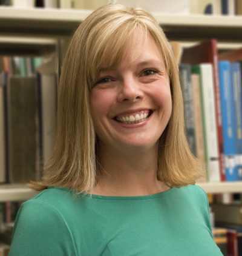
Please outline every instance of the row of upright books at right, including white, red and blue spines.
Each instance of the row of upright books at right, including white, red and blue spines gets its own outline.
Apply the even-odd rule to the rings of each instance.
[[[216,39],[181,56],[186,135],[206,181],[242,180],[241,61],[242,49],[218,55]]]

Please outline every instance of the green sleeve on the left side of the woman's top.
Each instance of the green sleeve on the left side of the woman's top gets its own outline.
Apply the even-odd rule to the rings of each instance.
[[[8,256],[73,256],[73,237],[62,215],[50,204],[30,200],[16,217]]]

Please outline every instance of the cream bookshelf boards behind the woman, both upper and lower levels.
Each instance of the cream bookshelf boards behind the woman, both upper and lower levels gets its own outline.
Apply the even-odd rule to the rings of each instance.
[[[57,47],[57,40],[70,39],[92,10],[0,7],[0,54],[42,55]],[[217,38],[218,47],[242,46],[242,16],[176,15],[152,13],[171,41],[194,42]],[[30,53],[31,51],[31,53]],[[241,192],[242,182],[199,183],[207,193]],[[0,185],[0,201],[27,200],[38,192],[25,185]]]

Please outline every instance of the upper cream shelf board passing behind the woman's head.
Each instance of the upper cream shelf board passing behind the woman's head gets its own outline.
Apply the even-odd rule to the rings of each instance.
[[[93,10],[0,7],[0,35],[71,36]],[[242,41],[242,16],[152,13],[169,40]]]

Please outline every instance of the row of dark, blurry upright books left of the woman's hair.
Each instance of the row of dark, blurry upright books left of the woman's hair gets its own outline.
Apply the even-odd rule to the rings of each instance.
[[[0,183],[39,180],[56,134],[55,56],[0,57]],[[39,66],[39,64],[41,64]]]

